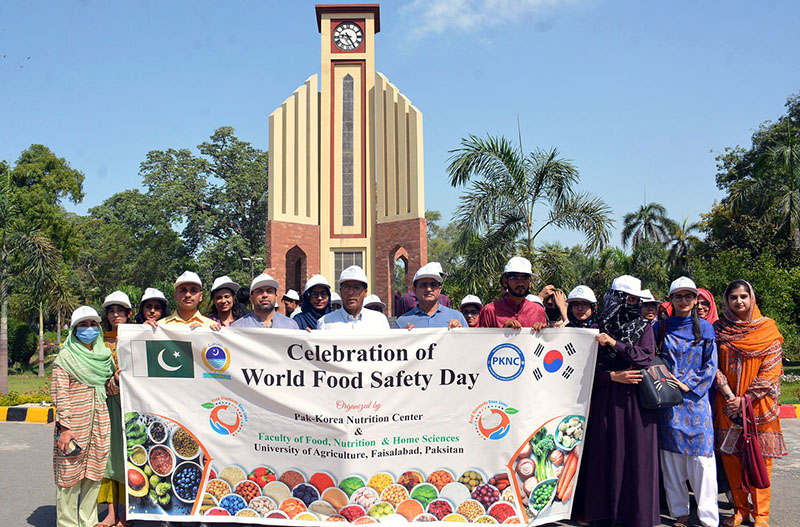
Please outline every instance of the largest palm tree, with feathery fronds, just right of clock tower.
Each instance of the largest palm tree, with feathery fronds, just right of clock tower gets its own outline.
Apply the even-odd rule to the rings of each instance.
[[[582,231],[591,251],[608,243],[611,209],[575,191],[578,170],[555,148],[525,156],[521,141],[516,148],[504,137],[470,135],[450,153],[450,184],[470,184],[456,210],[462,233],[457,248],[482,240],[485,250],[500,252],[483,258],[504,259],[517,252],[530,256],[536,237],[551,225]],[[542,219],[536,215],[540,209],[546,214]]]

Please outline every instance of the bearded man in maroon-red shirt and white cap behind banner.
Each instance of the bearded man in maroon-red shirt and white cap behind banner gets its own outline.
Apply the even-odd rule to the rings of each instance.
[[[532,276],[531,262],[527,258],[511,258],[500,277],[500,284],[508,293],[481,310],[478,327],[516,330],[523,327],[534,330],[547,327],[544,307],[526,298]]]

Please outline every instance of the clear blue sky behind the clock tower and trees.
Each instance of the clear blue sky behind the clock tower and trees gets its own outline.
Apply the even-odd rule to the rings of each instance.
[[[558,148],[616,220],[715,200],[715,157],[800,92],[797,3],[414,0],[381,4],[376,69],[424,115],[428,209],[448,221],[461,138]],[[219,126],[266,150],[269,114],[320,69],[314,2],[0,3],[0,157],[47,145],[86,176],[86,214],[140,187],[150,150]],[[540,219],[543,216],[539,216]],[[580,243],[548,229],[541,241]]]

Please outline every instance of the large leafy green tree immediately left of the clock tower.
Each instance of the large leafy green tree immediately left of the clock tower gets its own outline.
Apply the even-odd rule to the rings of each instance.
[[[173,226],[201,276],[240,268],[242,257],[263,254],[267,221],[267,152],[238,139],[230,126],[188,149],[153,150],[139,173],[147,197]],[[201,256],[201,253],[202,254]]]

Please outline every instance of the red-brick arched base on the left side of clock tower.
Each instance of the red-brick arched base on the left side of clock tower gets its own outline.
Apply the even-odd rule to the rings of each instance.
[[[285,293],[289,287],[302,288],[311,275],[319,273],[319,225],[269,220],[266,242],[264,272],[280,283],[279,295]],[[286,255],[289,251],[292,251],[293,259],[304,257],[305,264],[301,265],[301,283],[287,287]],[[302,293],[302,289],[299,291]]]

